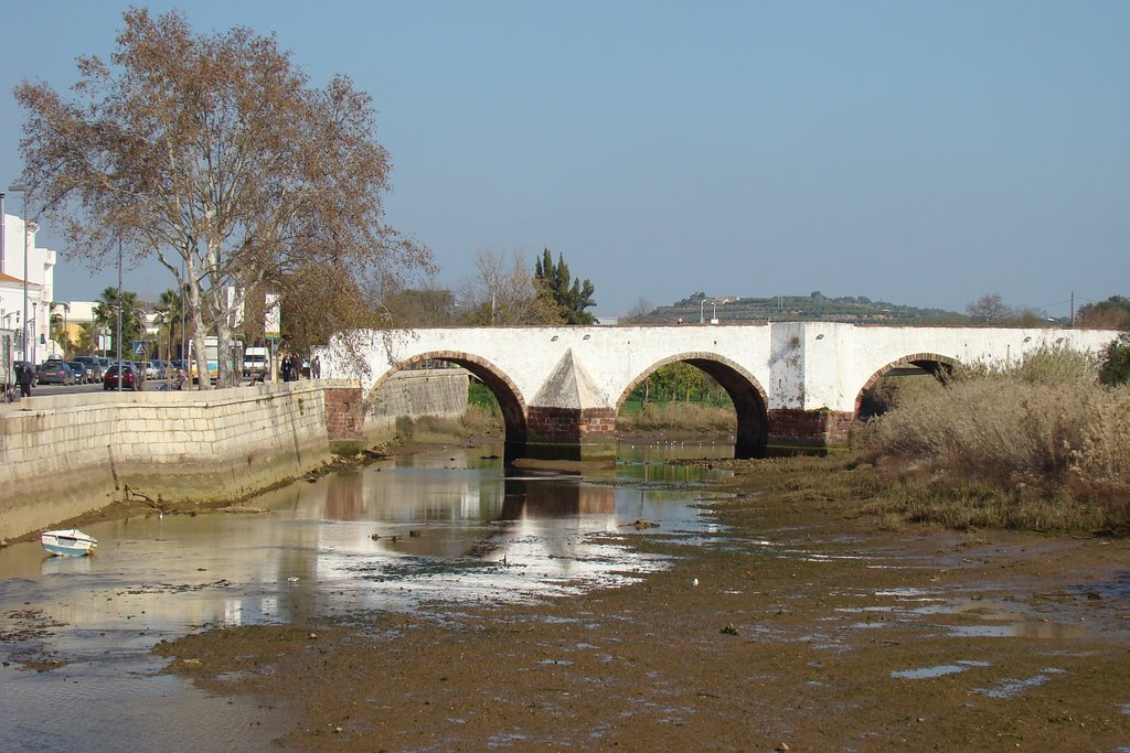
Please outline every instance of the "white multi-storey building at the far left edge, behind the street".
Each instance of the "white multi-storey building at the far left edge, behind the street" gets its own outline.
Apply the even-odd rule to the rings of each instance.
[[[0,218],[3,220],[0,226],[0,322],[3,324],[0,327],[18,333],[26,324],[27,358],[42,362],[51,352],[47,339],[51,333],[51,301],[54,299],[55,252],[35,245],[35,234],[40,229],[35,222],[25,222],[24,218],[6,212],[0,212]],[[23,348],[18,350],[23,354]]]

